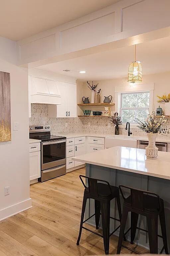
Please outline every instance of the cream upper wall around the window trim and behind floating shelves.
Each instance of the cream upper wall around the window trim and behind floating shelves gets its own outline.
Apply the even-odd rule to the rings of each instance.
[[[153,91],[153,109],[156,110],[158,105],[160,105],[162,108],[164,108],[163,103],[157,103],[157,97],[156,95],[162,95],[164,93],[168,94],[170,93],[170,72],[164,72],[164,73],[157,73],[157,74],[151,74],[143,76],[142,82],[139,84],[149,84],[154,83],[154,91]],[[132,85],[127,82],[127,77],[120,78],[120,79],[112,79],[112,80],[102,80],[102,81],[95,81],[95,83],[99,83],[98,89],[101,88],[101,98],[102,102],[104,99],[104,96],[112,95],[115,97],[115,86],[133,86],[135,91],[135,86],[137,87],[137,84]],[[82,96],[85,97],[91,97],[91,91],[87,87],[87,83],[83,83],[83,91]],[[113,99],[113,102],[115,99]]]

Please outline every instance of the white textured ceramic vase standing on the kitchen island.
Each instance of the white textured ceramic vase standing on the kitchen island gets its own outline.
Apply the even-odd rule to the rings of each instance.
[[[158,156],[158,148],[155,146],[157,133],[147,133],[149,145],[145,148],[145,155],[148,159],[156,159]]]

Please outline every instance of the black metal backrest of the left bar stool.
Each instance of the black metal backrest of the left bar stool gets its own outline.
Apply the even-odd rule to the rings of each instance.
[[[103,196],[103,195],[100,195],[98,193],[98,186],[97,186],[98,181],[107,184],[107,186],[109,188],[109,191],[110,191],[110,195],[112,194],[111,186],[110,186],[108,181],[106,181],[106,180],[99,180],[99,179],[87,177],[87,176],[84,176],[84,175],[79,175],[79,177],[80,177],[80,180],[81,180],[81,182],[82,182],[82,184],[83,184],[83,186],[85,188],[87,188],[87,186],[85,185],[85,183],[84,183],[82,178],[86,178],[87,179],[90,196],[95,196],[95,197]],[[107,196],[109,196],[109,195],[107,195]]]

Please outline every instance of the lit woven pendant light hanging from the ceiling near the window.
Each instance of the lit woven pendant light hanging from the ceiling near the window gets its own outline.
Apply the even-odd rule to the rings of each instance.
[[[137,83],[142,81],[142,66],[140,61],[136,61],[136,45],[135,45],[135,58],[130,63],[128,68],[128,82]]]

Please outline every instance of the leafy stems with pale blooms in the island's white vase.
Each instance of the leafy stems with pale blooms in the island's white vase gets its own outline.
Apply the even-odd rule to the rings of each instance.
[[[167,123],[167,120],[163,117],[156,118],[155,111],[153,111],[152,115],[149,114],[146,120],[136,118],[136,122],[138,123],[137,127],[146,133],[161,133],[163,126]]]

